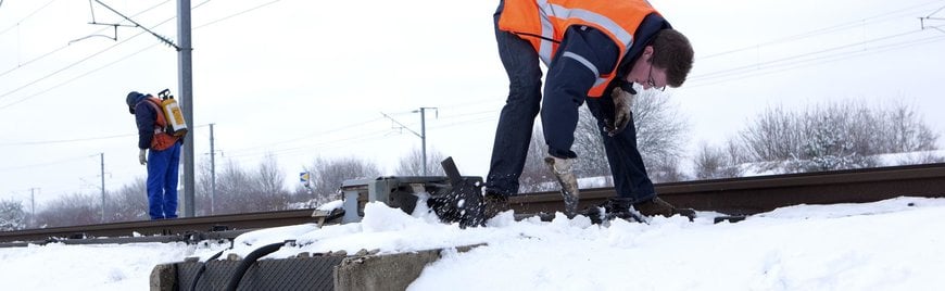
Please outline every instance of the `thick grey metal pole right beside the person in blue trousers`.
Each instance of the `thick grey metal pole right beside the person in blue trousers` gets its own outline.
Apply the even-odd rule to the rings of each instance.
[[[180,101],[184,105],[184,119],[187,128],[193,130],[193,76],[190,52],[190,0],[177,0],[177,64],[180,69],[177,79]],[[193,205],[193,138],[184,139],[184,217],[194,216]]]

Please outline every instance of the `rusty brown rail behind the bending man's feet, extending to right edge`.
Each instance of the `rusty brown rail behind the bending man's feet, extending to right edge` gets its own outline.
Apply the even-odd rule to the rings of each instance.
[[[656,192],[679,207],[754,214],[797,204],[872,202],[896,197],[945,197],[945,164],[925,164],[822,173],[772,175],[656,185]],[[581,190],[581,205],[603,203],[613,188]],[[557,192],[509,199],[516,212],[562,210]]]

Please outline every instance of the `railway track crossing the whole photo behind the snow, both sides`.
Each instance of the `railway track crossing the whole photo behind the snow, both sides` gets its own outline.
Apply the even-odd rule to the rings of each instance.
[[[754,214],[796,204],[880,201],[896,197],[945,198],[945,163],[828,173],[790,174],[656,185],[660,198],[681,207]],[[581,207],[603,203],[613,188],[581,190]],[[563,208],[557,192],[509,199],[517,213]],[[231,214],[0,232],[0,246],[29,243],[128,243],[231,239],[260,228],[317,223],[313,210]],[[331,222],[329,222],[331,223]]]

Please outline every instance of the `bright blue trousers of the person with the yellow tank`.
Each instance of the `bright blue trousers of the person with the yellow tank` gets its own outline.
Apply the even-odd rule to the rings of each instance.
[[[163,151],[148,150],[148,215],[151,219],[177,218],[177,173],[180,142]]]

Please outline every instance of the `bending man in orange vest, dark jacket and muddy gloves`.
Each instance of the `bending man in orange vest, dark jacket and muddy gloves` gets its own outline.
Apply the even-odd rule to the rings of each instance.
[[[692,68],[689,40],[646,0],[504,0],[493,15],[509,92],[499,117],[486,184],[486,215],[507,210],[518,192],[534,118],[541,112],[549,157],[566,212],[580,195],[571,165],[578,107],[585,101],[604,140],[616,197],[607,213],[693,217],[656,195],[637,149],[630,105],[639,89],[679,87]],[[542,99],[542,72],[547,66]],[[634,89],[634,84],[637,89]],[[596,207],[594,207],[596,208]],[[595,217],[591,217],[594,219]]]

